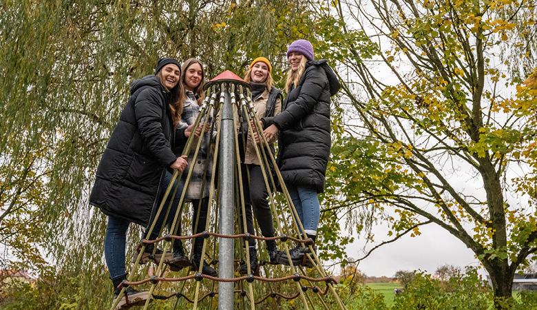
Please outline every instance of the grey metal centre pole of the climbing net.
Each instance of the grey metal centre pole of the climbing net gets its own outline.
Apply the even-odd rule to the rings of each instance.
[[[227,85],[229,87],[229,85]],[[233,174],[235,154],[235,124],[233,123],[233,105],[231,90],[224,90],[222,110],[222,128],[220,133],[220,234],[233,235],[233,209],[235,205]],[[219,277],[232,279],[233,275],[233,239],[220,238]],[[218,309],[233,310],[233,282],[220,282],[218,285]]]

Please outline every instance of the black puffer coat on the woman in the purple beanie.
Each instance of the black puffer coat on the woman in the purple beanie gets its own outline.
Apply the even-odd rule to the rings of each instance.
[[[326,60],[308,61],[296,88],[286,96],[280,115],[263,118],[264,127],[280,130],[277,164],[286,184],[324,191],[330,156],[330,96],[341,85]]]

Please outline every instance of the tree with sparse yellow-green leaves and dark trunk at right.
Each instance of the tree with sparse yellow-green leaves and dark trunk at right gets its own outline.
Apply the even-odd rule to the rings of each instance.
[[[358,228],[388,220],[378,245],[439,225],[482,262],[498,308],[537,250],[535,79],[521,84],[535,64],[533,5],[357,0],[317,10],[334,25],[318,37],[339,61],[350,119],[328,168],[341,192],[328,201],[366,214]]]

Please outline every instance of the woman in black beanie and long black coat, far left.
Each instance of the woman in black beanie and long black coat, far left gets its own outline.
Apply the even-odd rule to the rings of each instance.
[[[173,153],[174,148],[186,143],[191,133],[191,127],[175,130],[182,112],[179,76],[180,63],[163,58],[158,61],[155,75],[132,83],[129,101],[97,168],[89,203],[109,216],[105,259],[114,284],[114,300],[120,293],[118,285],[127,275],[125,236],[129,224],[149,227],[162,188],[167,185],[167,169],[182,171],[187,167],[186,156]],[[159,220],[162,225],[163,218]],[[147,291],[131,287],[126,294],[128,299],[120,300],[116,309],[143,304],[149,297]]]

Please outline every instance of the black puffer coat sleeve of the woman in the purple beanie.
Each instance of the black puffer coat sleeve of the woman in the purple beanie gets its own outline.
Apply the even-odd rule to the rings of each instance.
[[[313,111],[324,88],[328,85],[328,79],[324,70],[317,65],[310,67],[304,73],[304,83],[300,88],[297,99],[287,103],[286,110],[273,117],[273,123],[280,130],[286,130],[302,121],[302,118]]]

